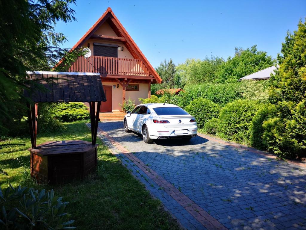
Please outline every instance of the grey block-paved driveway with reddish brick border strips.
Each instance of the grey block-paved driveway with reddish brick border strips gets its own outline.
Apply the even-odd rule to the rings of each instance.
[[[187,229],[306,229],[303,166],[210,137],[145,144],[119,121],[98,135]]]

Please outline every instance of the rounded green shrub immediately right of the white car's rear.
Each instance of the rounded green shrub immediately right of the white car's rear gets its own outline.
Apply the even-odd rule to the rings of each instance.
[[[196,117],[199,128],[203,128],[205,122],[213,117],[217,117],[220,107],[211,100],[205,98],[197,98],[186,106],[186,111]]]

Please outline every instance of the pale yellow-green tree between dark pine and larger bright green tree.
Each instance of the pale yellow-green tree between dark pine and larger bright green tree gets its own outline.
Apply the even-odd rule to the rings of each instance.
[[[218,67],[224,63],[218,56],[206,57],[204,60],[187,59],[177,66],[181,79],[186,84],[200,84],[215,81]]]

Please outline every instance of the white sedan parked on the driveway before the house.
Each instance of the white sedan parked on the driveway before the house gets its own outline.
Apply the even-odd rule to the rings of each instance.
[[[128,111],[123,120],[125,132],[138,132],[145,143],[154,139],[184,138],[197,135],[195,117],[177,105],[151,103],[138,105]]]

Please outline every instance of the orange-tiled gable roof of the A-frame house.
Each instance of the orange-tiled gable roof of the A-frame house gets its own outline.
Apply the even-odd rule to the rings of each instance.
[[[132,54],[135,59],[140,59],[144,63],[144,65],[150,70],[150,73],[153,75],[157,83],[161,83],[162,79],[155,71],[155,69],[151,66],[147,58],[140,51],[134,40],[131,38],[129,33],[125,30],[123,25],[120,23],[118,18],[115,16],[114,12],[110,7],[103,13],[103,15],[95,22],[93,26],[82,36],[82,38],[73,46],[72,49],[75,49],[79,46],[82,46],[86,40],[88,40],[95,31],[102,25],[104,22],[108,22],[110,27],[114,30],[117,36],[124,37],[126,41],[122,41],[125,44],[126,48]]]

